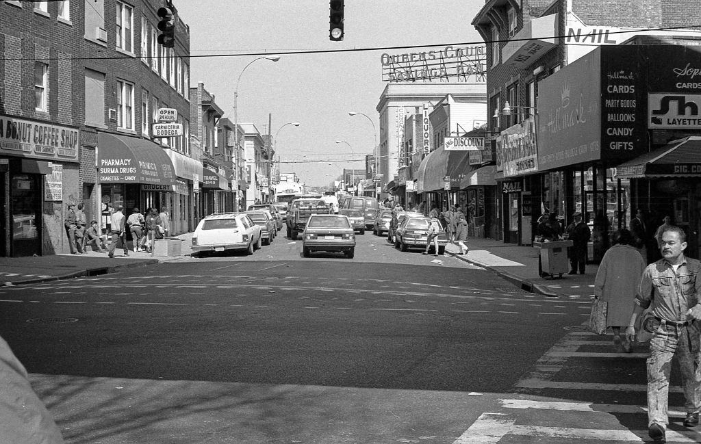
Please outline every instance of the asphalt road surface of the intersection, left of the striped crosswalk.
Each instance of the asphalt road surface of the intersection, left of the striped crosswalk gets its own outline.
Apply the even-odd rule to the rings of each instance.
[[[588,307],[369,232],[352,260],[278,235],[0,289],[0,334],[68,443],[454,443]]]

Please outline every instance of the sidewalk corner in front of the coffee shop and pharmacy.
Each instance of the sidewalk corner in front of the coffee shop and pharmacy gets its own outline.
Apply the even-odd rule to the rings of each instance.
[[[144,251],[116,249],[114,258],[106,253],[57,254],[25,258],[0,258],[0,285],[36,284],[81,276],[106,275],[121,268],[143,267],[161,262],[178,261],[191,253],[192,233],[175,236],[182,240],[180,256],[152,256]]]

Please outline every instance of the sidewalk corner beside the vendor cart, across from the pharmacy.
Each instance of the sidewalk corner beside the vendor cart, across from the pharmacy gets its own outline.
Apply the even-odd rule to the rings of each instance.
[[[594,277],[599,269],[596,264],[587,264],[585,275],[565,274],[562,275],[562,279],[543,278],[538,275],[540,250],[537,248],[518,247],[515,244],[476,237],[470,237],[465,244],[470,247],[468,254],[459,254],[460,247],[454,244],[447,245],[446,254],[496,272],[526,291],[552,297],[568,296],[572,291],[571,287],[578,286],[580,289],[586,289],[587,294],[593,293],[593,287],[590,286],[594,285]]]

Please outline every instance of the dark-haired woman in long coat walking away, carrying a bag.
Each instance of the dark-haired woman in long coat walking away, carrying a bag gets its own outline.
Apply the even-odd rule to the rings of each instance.
[[[594,279],[594,295],[608,303],[606,326],[613,329],[613,344],[630,352],[630,343],[621,341],[620,330],[625,331],[633,301],[640,286],[640,278],[646,263],[638,249],[634,247],[632,233],[625,228],[615,232],[613,247],[601,259],[597,277]]]

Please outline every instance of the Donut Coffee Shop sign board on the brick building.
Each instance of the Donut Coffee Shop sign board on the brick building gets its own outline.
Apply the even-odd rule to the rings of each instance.
[[[77,128],[0,115],[0,154],[79,162]]]

